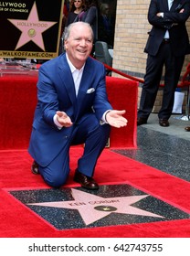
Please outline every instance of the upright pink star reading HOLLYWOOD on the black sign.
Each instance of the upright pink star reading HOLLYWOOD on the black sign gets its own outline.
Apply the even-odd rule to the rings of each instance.
[[[54,26],[57,22],[39,21],[37,14],[37,5],[34,3],[26,20],[8,19],[22,34],[17,42],[16,49],[21,48],[27,42],[33,41],[39,48],[45,51],[42,33],[49,27]]]

